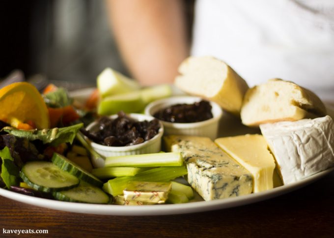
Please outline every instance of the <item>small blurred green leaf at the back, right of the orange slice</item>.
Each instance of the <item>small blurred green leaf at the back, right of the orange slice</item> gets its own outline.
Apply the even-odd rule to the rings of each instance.
[[[56,91],[44,95],[44,100],[49,107],[66,107],[72,104],[72,98],[64,88],[58,88]]]

